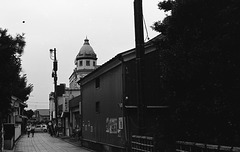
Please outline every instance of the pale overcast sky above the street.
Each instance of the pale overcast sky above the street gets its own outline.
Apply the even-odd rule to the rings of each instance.
[[[144,37],[159,33],[150,26],[164,19],[158,9],[160,0],[143,0],[146,23]],[[69,86],[74,60],[84,39],[102,65],[118,53],[135,47],[134,0],[1,0],[0,28],[12,36],[25,34],[22,73],[27,75],[33,92],[27,109],[49,108],[49,93],[54,91],[53,61],[50,49],[56,48],[58,84]],[[25,22],[23,22],[25,21]]]

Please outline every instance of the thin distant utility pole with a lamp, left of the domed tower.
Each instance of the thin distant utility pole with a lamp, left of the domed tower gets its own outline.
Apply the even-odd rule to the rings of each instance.
[[[53,77],[53,79],[54,79],[55,119],[56,119],[56,127],[58,127],[57,56],[56,56],[56,48],[50,49],[50,58],[53,60],[52,77]]]

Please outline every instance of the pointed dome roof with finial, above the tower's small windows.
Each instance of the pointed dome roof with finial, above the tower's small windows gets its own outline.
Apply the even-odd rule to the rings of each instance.
[[[90,46],[89,40],[87,38],[84,40],[84,44],[76,57],[76,60],[79,59],[97,59],[97,55],[93,51],[93,48]]]

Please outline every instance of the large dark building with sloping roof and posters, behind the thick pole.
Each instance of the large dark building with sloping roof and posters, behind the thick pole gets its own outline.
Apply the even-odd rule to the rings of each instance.
[[[101,67],[80,80],[82,144],[96,151],[139,151],[153,147],[148,136],[164,130],[166,109],[160,94],[159,49],[155,41],[161,35],[144,45],[144,66],[142,85],[144,109],[139,110],[137,94],[136,51],[131,49],[116,55]],[[165,117],[165,118],[163,118]],[[141,121],[143,119],[144,121]],[[162,126],[158,126],[162,121]],[[140,123],[144,133],[140,133]],[[133,138],[143,137],[131,142]],[[142,143],[140,143],[140,141]],[[146,144],[148,143],[148,144]],[[145,145],[145,146],[142,146]],[[132,148],[132,150],[130,150]],[[138,151],[138,150],[137,150]]]

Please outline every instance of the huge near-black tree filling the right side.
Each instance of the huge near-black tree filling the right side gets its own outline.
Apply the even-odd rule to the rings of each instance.
[[[175,0],[152,26],[164,35],[161,82],[176,138],[215,144],[240,141],[240,1]]]

